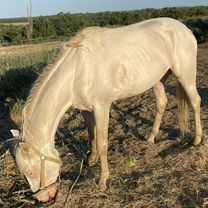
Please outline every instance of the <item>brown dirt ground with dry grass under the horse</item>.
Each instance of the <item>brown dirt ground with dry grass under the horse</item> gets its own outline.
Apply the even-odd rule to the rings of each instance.
[[[179,136],[174,77],[166,85],[168,106],[154,145],[145,142],[155,114],[152,91],[113,103],[109,124],[110,178],[104,193],[97,187],[99,162],[89,167],[85,159],[81,176],[69,194],[81,160],[89,150],[79,110],[68,111],[57,131],[56,145],[63,161],[61,184],[56,199],[47,204],[32,198],[15,166],[13,143],[3,143],[1,139],[0,207],[208,207],[208,45],[199,46],[197,86],[202,98],[204,130],[203,142],[197,147],[192,146],[192,113],[189,135],[184,139]],[[19,126],[20,118],[2,113],[9,110],[6,102],[1,103],[0,109],[0,132],[5,139],[10,137],[10,128]]]

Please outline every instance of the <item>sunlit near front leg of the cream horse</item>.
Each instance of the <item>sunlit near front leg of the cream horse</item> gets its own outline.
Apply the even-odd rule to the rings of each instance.
[[[108,161],[107,161],[109,110],[110,110],[110,105],[98,104],[94,108],[97,151],[101,162],[101,175],[99,181],[99,188],[101,191],[104,191],[106,189],[106,182],[109,177],[109,169],[108,169]]]

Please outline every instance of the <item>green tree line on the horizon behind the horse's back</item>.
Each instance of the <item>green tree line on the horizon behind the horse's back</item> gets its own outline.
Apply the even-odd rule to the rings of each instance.
[[[118,27],[150,18],[172,17],[186,24],[199,43],[208,41],[208,7],[183,7],[143,9],[122,12],[99,12],[33,18],[33,37],[28,40],[28,27],[24,24],[1,24],[23,22],[25,18],[0,20],[0,44],[23,44],[54,39],[69,39],[84,27]]]

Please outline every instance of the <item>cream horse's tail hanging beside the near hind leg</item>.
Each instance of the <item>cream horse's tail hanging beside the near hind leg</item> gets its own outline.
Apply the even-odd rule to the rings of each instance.
[[[189,100],[179,82],[176,85],[176,97],[178,99],[178,121],[182,137],[188,132]]]

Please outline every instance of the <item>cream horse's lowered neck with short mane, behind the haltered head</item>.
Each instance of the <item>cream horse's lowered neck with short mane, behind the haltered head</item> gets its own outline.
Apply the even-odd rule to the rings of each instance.
[[[42,91],[38,98],[32,98],[28,106],[26,104],[23,137],[29,139],[37,148],[54,148],[54,136],[59,121],[72,104],[72,84],[73,69],[69,70],[66,59],[44,86],[40,86]],[[30,108],[32,105],[33,108]]]

